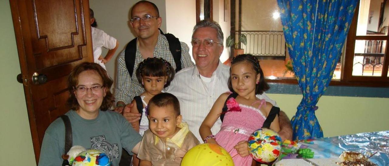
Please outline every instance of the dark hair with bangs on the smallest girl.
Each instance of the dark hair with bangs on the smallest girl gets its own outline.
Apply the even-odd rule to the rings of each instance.
[[[164,77],[167,76],[164,88],[170,85],[175,75],[175,70],[168,61],[162,58],[147,58],[139,63],[136,71],[138,82],[142,85],[142,76]],[[142,85],[143,86],[143,85]]]

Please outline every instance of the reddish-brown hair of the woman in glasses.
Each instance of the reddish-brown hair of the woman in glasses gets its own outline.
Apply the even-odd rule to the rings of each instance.
[[[101,67],[99,64],[91,63],[91,62],[84,62],[82,64],[79,64],[72,70],[72,72],[70,72],[68,78],[68,91],[70,93],[70,97],[67,101],[67,105],[72,110],[79,109],[80,105],[77,102],[77,98],[75,97],[74,90],[78,84],[78,76],[80,75],[80,73],[88,70],[95,71],[97,74],[100,75],[103,81],[103,87],[105,87],[107,90],[107,93],[105,94],[103,102],[100,106],[100,110],[106,111],[112,106],[112,103],[115,101],[114,96],[110,91],[113,81],[111,78],[109,78],[107,71],[105,71],[103,67]]]

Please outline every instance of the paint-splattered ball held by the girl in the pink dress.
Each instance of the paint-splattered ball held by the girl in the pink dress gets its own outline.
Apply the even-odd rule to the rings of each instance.
[[[259,163],[271,163],[280,156],[281,137],[267,128],[254,131],[247,142],[250,156]]]

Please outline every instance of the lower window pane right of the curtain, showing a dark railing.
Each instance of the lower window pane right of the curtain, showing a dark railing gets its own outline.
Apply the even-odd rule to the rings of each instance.
[[[356,40],[352,75],[381,76],[386,42],[386,40]]]

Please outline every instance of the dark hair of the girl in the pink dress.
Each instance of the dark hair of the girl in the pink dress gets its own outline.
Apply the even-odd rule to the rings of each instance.
[[[261,69],[261,66],[259,65],[259,61],[256,57],[254,57],[251,54],[242,54],[238,55],[235,57],[232,62],[231,62],[231,68],[240,62],[247,62],[251,64],[252,69],[256,71],[256,74],[259,74],[259,84],[255,86],[255,94],[262,94],[266,90],[268,90],[270,87],[269,85],[265,82],[265,76],[263,76],[263,71]],[[230,68],[230,73],[231,73],[231,68]],[[231,92],[236,93],[231,84],[231,75],[230,78],[228,78],[228,89],[230,89]]]

